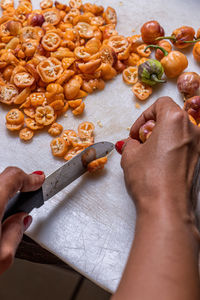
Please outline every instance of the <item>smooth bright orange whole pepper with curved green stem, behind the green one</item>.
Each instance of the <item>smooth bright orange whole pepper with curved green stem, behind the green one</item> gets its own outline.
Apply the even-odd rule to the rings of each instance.
[[[179,51],[171,51],[170,53],[167,52],[164,48],[156,45],[149,45],[146,47],[160,49],[164,53],[164,57],[161,59],[161,64],[164,68],[165,74],[168,78],[175,78],[180,75],[185,68],[188,66],[187,57],[179,52]]]

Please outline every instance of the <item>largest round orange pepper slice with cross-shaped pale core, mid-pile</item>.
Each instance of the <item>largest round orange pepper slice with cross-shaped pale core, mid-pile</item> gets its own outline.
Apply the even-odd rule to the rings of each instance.
[[[63,67],[58,59],[50,57],[39,63],[37,71],[44,82],[52,82],[60,77]]]

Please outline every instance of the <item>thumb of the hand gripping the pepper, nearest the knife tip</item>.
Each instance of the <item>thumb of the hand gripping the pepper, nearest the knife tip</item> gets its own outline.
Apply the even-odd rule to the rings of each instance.
[[[122,148],[121,167],[125,170],[131,163],[135,153],[142,145],[139,141],[128,138]]]

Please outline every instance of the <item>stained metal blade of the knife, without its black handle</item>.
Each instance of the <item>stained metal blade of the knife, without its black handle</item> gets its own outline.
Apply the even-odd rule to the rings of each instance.
[[[93,144],[49,175],[42,186],[44,201],[84,174],[87,171],[87,163],[106,156],[113,149],[114,145],[110,142]]]

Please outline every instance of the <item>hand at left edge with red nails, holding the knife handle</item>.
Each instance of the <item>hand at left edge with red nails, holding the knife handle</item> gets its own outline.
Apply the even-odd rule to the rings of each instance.
[[[0,220],[2,220],[6,205],[18,191],[29,192],[39,189],[44,182],[43,172],[26,174],[16,167],[8,167],[0,174]],[[1,222],[0,231],[0,275],[13,262],[15,252],[23,233],[32,222],[27,213],[17,213]]]

